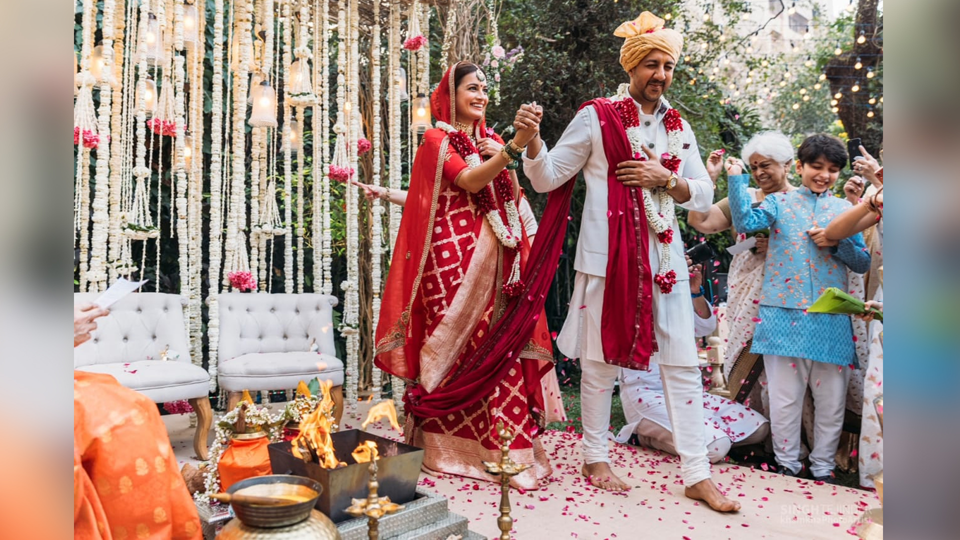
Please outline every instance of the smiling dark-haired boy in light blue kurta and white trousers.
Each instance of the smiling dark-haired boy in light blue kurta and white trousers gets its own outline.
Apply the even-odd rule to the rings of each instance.
[[[870,269],[859,233],[843,240],[824,234],[850,203],[830,192],[847,149],[838,138],[812,135],[797,152],[799,189],[767,196],[756,209],[747,193],[750,176],[728,160],[733,227],[742,233],[770,229],[760,310],[751,351],[763,355],[770,394],[770,430],[782,472],[802,474],[801,418],[809,386],[815,414],[810,473],[832,483],[834,455],[843,430],[847,383],[856,367],[850,315],[807,313],[828,287],[847,288],[847,270]]]

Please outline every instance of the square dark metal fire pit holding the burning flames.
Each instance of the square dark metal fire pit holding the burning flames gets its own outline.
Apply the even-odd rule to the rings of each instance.
[[[333,453],[346,467],[324,469],[316,459],[304,461],[293,454],[291,443],[271,444],[270,463],[276,475],[297,475],[315,479],[323,486],[316,508],[334,523],[352,519],[344,510],[352,499],[367,498],[368,464],[357,463],[351,452],[365,441],[373,441],[379,449],[379,495],[390,497],[394,503],[409,503],[417,495],[417,479],[423,463],[423,450],[408,444],[392,441],[361,430],[345,430],[331,433]]]

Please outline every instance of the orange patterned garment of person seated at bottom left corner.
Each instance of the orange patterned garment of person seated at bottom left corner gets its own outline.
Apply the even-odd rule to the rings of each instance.
[[[203,538],[156,404],[73,373],[74,538]]]

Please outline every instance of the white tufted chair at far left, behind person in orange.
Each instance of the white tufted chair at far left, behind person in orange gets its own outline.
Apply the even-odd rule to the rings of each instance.
[[[74,305],[93,302],[100,293],[73,295]],[[186,299],[178,294],[137,292],[127,295],[110,313],[97,319],[93,337],[73,350],[73,367],[112,375],[124,386],[155,403],[188,400],[197,412],[193,449],[207,458],[206,436],[213,420],[210,375],[190,361],[190,345],[183,321]],[[165,347],[180,354],[161,360]]]

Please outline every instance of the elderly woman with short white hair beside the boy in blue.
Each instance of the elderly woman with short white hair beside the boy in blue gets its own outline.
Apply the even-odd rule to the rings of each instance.
[[[712,152],[708,158],[707,169],[710,177],[716,182],[723,165],[723,152]],[[730,157],[727,159],[736,160]],[[787,171],[794,160],[793,143],[786,135],[777,131],[761,132],[754,135],[743,147],[743,160],[753,174],[757,187],[749,187],[753,197],[754,207],[759,206],[763,199],[771,193],[778,193],[796,189],[787,179]],[[687,222],[701,233],[720,233],[732,229],[733,220],[730,212],[730,202],[727,198],[717,202],[706,212],[690,211]],[[733,231],[736,242],[745,242],[749,238],[746,234]],[[754,241],[754,240],[750,240]],[[733,363],[745,354],[741,361],[750,362],[756,359],[750,355],[750,346],[756,327],[756,318],[759,312],[758,300],[763,283],[763,261],[767,252],[767,236],[756,233],[756,246],[746,249],[733,256],[728,275],[727,295],[727,344],[724,347],[724,372],[730,376]],[[763,376],[761,375],[760,378]],[[754,408],[761,414],[767,415],[768,406],[765,392],[761,392],[762,384],[755,384],[746,405]]]

